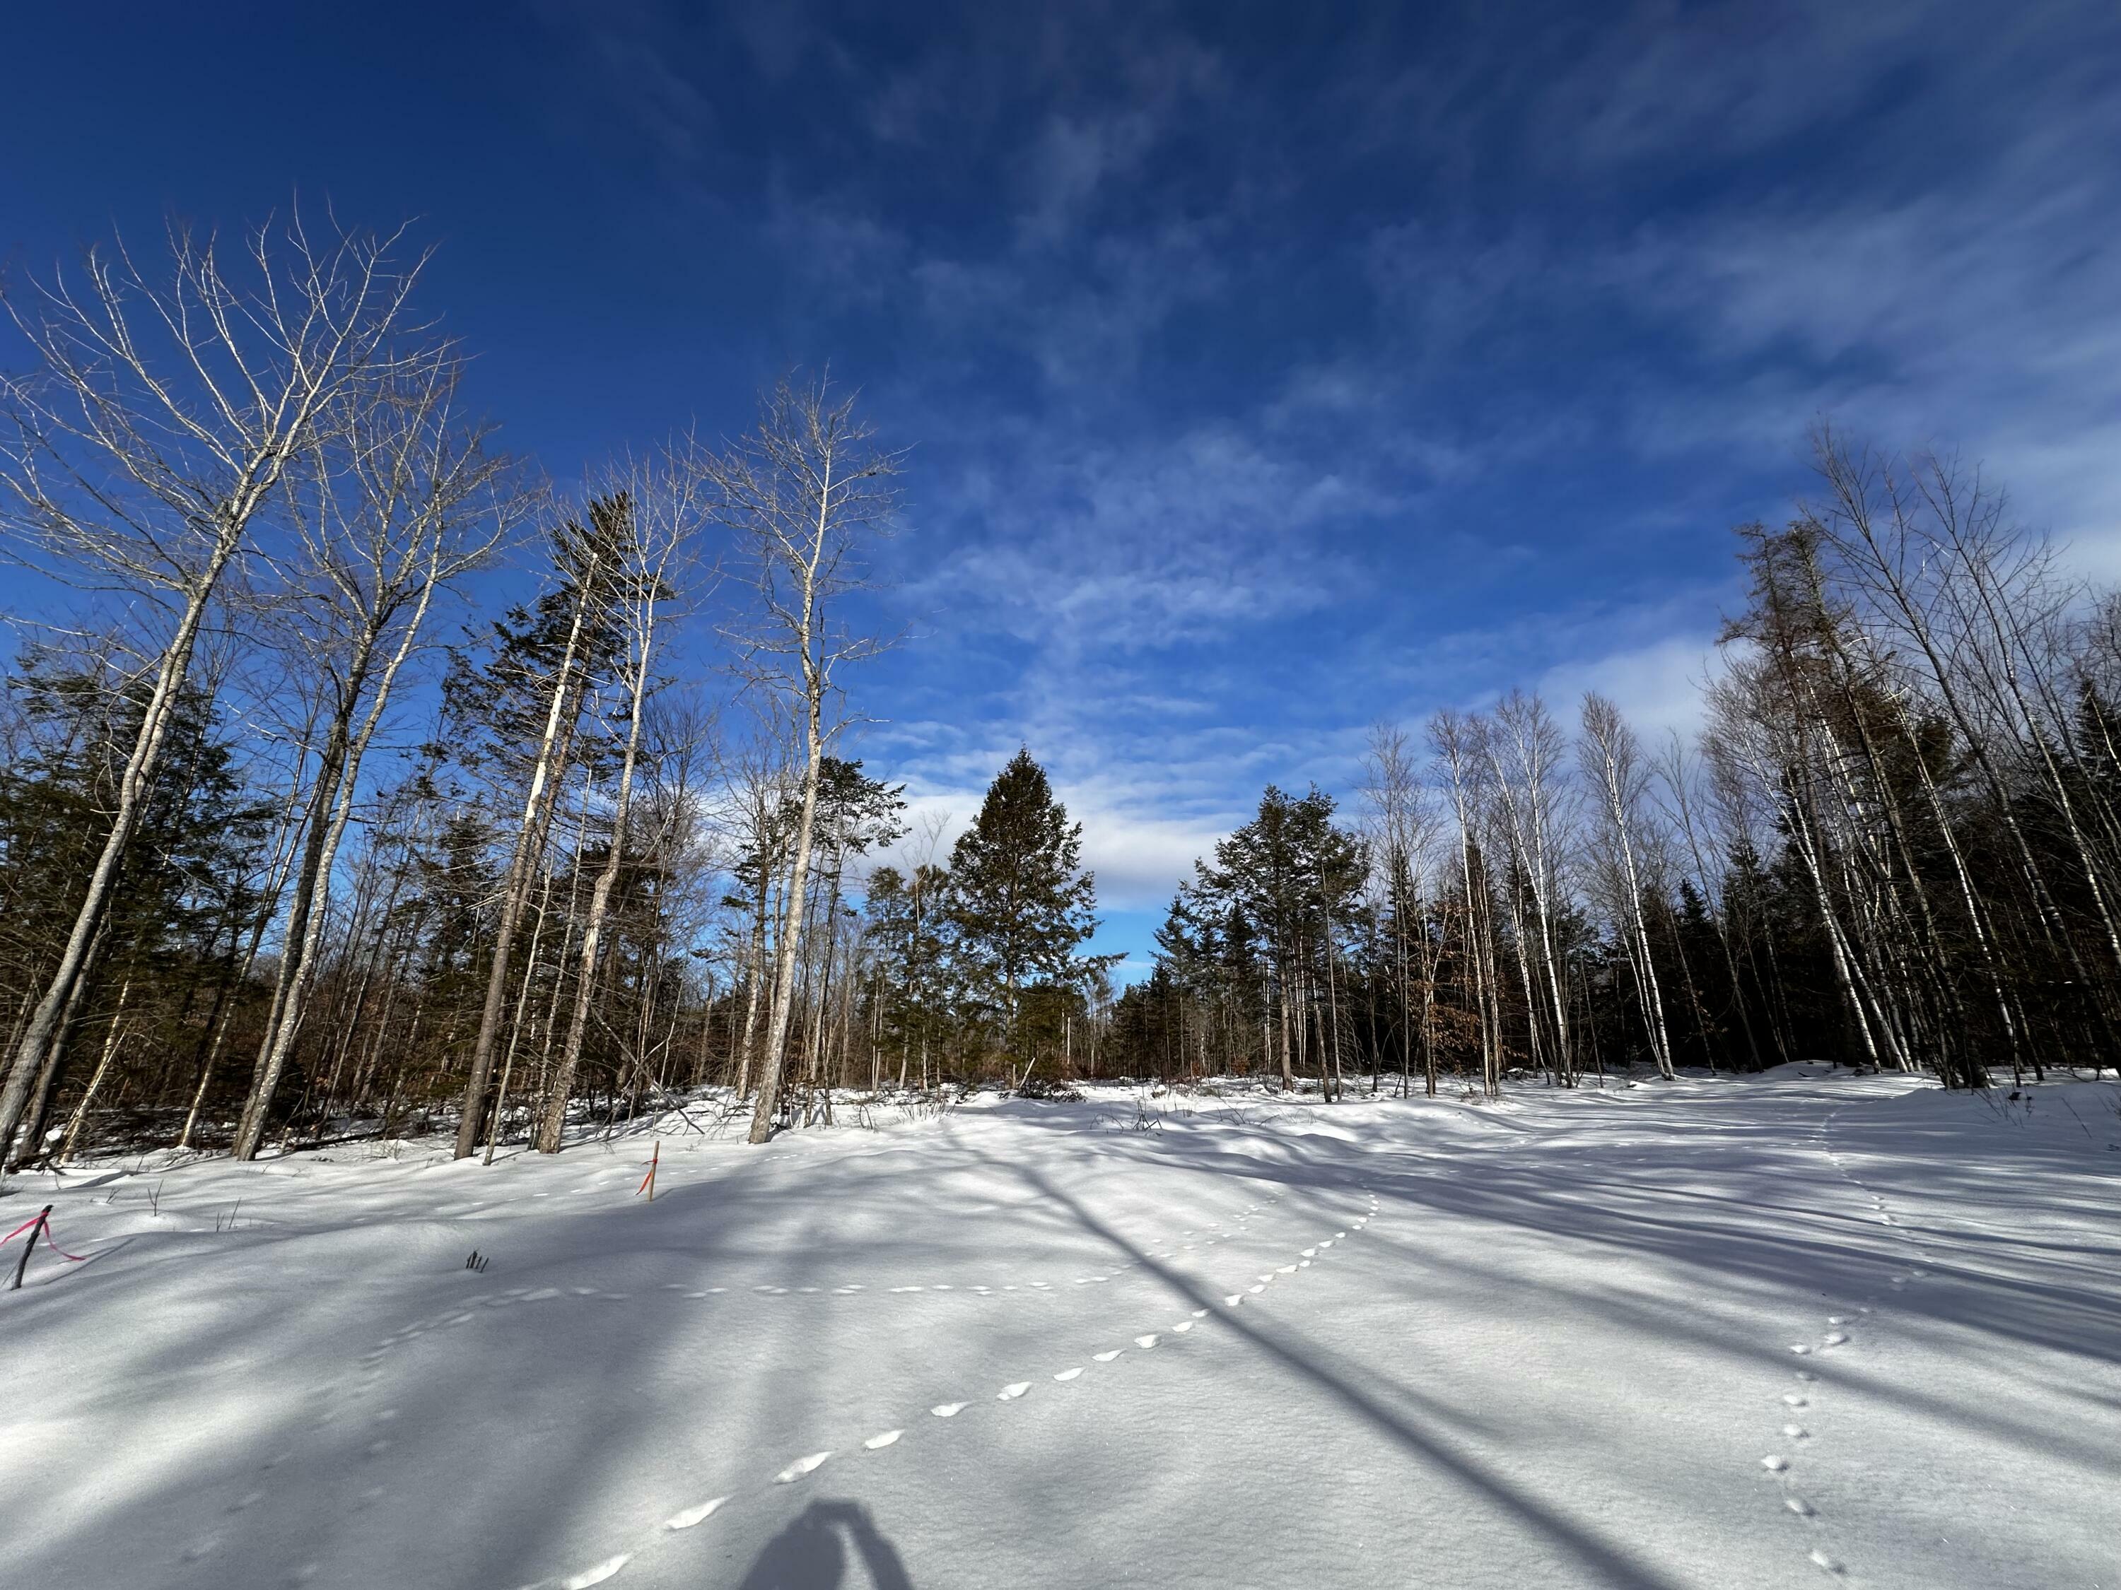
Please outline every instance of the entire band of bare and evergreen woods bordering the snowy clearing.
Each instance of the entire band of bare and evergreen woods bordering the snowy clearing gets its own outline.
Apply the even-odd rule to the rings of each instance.
[[[176,231],[8,299],[13,1166],[556,1151],[672,1105],[764,1141],[976,1081],[2115,1056],[2121,604],[1949,458],[1816,435],[1813,494],[1737,530],[1697,738],[1523,691],[1381,725],[1345,799],[1268,787],[1124,982],[1029,748],[946,846],[846,738],[889,710],[899,464],[853,399],[789,379],[560,490],[464,411],[418,276]]]

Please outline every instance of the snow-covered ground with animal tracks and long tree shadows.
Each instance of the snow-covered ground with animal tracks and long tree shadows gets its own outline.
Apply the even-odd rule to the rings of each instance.
[[[2121,1586],[2121,1090],[2032,1098],[30,1177],[0,1584]]]

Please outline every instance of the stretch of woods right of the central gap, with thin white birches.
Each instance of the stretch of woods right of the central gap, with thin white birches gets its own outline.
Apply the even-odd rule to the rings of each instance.
[[[1379,727],[1351,820],[1268,789],[1171,903],[1116,1062],[1326,1094],[2113,1064],[2121,598],[1975,471],[1813,445],[1816,498],[1737,530],[1697,736],[1510,691]]]

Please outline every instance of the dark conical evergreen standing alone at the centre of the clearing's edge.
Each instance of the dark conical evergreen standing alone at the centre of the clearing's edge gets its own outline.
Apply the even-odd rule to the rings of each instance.
[[[1082,823],[1067,820],[1046,770],[1018,750],[950,852],[950,924],[976,1001],[1016,1041],[1027,982],[1071,986],[1075,948],[1097,933],[1097,884],[1082,871]]]

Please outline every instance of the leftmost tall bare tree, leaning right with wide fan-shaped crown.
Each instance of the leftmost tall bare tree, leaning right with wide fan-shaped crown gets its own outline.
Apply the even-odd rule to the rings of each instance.
[[[420,261],[397,237],[331,233],[299,216],[248,235],[223,271],[212,235],[172,227],[151,273],[125,246],[91,250],[78,280],[6,295],[40,369],[4,386],[6,528],[59,579],[123,591],[157,615],[153,685],[119,778],[110,829],[74,929],[8,1056],[6,1143],[110,903],[208,608],[255,547],[288,466],[348,392],[388,373],[418,326]]]

